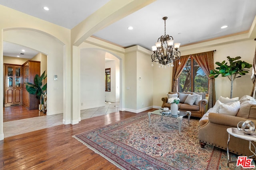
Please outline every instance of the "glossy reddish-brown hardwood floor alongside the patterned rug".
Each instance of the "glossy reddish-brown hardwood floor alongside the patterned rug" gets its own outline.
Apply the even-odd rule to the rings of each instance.
[[[146,114],[148,111],[137,114]],[[58,125],[7,137],[0,141],[0,169],[117,170],[116,166],[72,136],[137,114],[119,111],[84,119],[76,125]]]

